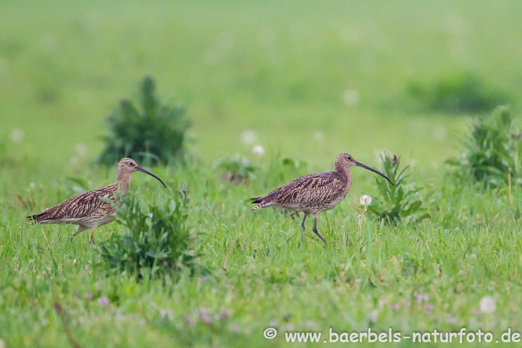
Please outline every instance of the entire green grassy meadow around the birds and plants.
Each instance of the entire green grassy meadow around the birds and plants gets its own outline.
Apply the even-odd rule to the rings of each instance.
[[[440,81],[470,74],[518,119],[520,38],[517,1],[4,2],[0,348],[353,344],[330,343],[330,328],[403,337],[480,329],[491,344],[519,345],[501,336],[522,331],[522,190],[455,179],[445,161],[464,151],[472,116],[487,112],[426,100]],[[105,118],[139,98],[144,76],[192,120],[187,164],[147,167],[169,189],[132,176],[144,203],[189,191],[197,267],[161,279],[98,265],[99,245],[125,233],[118,223],[90,246],[87,232],[69,241],[76,226],[25,219],[114,182],[115,165],[94,163]],[[428,97],[416,99],[412,86]],[[300,217],[251,211],[251,197],[331,171],[341,152],[378,169],[384,151],[410,165],[407,182],[423,187],[429,219],[372,219],[360,197],[378,197],[382,178],[358,167],[348,196],[319,217],[326,245],[312,219],[302,235]],[[259,167],[247,185],[222,181],[214,165],[236,153]],[[277,336],[265,338],[267,328]],[[287,343],[285,332],[322,336]]]

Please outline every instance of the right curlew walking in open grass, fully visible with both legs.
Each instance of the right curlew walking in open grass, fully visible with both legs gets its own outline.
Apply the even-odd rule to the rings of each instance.
[[[350,167],[357,165],[383,176],[394,185],[383,173],[372,167],[359,163],[347,153],[341,153],[335,160],[333,172],[309,174],[293,179],[286,185],[276,188],[268,195],[251,198],[257,205],[252,210],[264,207],[286,208],[304,213],[301,227],[304,232],[304,222],[308,215],[314,217],[312,231],[326,243],[325,238],[317,231],[317,218],[321,212],[333,209],[346,197],[352,186]],[[395,186],[395,185],[394,185]]]

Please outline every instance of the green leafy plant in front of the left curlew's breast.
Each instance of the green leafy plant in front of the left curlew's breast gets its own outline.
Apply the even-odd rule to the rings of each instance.
[[[103,264],[138,277],[144,269],[151,277],[173,273],[184,266],[194,269],[193,237],[186,226],[187,192],[172,196],[162,205],[145,208],[134,195],[118,197],[118,203],[114,203],[116,222],[126,233],[112,234],[99,245]]]

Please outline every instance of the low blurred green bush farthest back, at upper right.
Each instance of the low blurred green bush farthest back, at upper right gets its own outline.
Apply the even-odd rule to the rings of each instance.
[[[509,102],[507,95],[488,88],[480,78],[469,72],[441,79],[433,86],[410,82],[407,92],[424,109],[446,113],[491,111]]]

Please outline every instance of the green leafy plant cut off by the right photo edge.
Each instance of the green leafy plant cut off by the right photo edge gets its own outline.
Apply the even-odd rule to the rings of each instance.
[[[471,134],[464,140],[466,151],[446,161],[458,166],[458,176],[472,177],[496,187],[507,182],[508,173],[520,182],[521,135],[513,122],[513,113],[506,106],[497,107],[491,115],[474,120]]]

